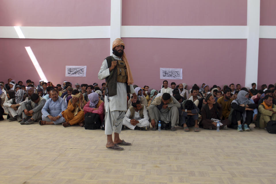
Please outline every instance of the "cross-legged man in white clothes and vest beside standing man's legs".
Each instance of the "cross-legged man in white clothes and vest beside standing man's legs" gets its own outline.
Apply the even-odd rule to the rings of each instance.
[[[136,89],[136,88],[135,88]],[[127,113],[124,115],[123,125],[131,130],[145,130],[150,128],[147,109],[139,100],[131,103]]]

